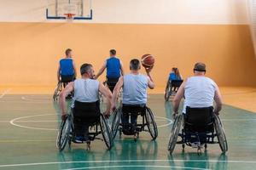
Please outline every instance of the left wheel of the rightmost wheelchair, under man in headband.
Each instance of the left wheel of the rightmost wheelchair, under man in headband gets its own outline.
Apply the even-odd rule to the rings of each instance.
[[[182,126],[183,123],[183,115],[179,114],[176,116],[175,121],[173,122],[172,125],[172,131],[168,143],[168,150],[170,151],[170,154],[172,154],[172,151],[175,148],[175,145],[177,143],[177,136],[180,131],[180,127]]]

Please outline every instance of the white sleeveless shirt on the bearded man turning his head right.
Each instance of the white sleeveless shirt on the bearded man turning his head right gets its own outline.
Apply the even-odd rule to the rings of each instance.
[[[74,81],[74,95],[75,100],[79,102],[92,103],[99,100],[99,85],[100,82],[93,79],[76,79]]]

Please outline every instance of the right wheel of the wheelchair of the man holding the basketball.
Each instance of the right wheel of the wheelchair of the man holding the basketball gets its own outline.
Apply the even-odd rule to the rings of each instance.
[[[152,137],[152,139],[156,139],[158,136],[158,130],[157,130],[157,126],[156,123],[154,121],[154,115],[152,113],[152,111],[147,107],[146,108],[146,122],[147,122],[147,126],[148,126],[148,131]]]

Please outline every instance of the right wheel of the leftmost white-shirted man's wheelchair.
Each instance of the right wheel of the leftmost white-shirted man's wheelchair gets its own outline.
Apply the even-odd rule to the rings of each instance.
[[[113,135],[112,135],[110,128],[108,126],[108,123],[103,115],[101,115],[100,127],[102,130],[102,137],[104,139],[104,142],[107,145],[108,150],[110,150],[113,146]]]

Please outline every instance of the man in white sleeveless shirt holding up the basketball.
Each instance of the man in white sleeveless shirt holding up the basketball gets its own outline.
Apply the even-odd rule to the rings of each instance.
[[[122,124],[123,132],[132,134],[136,132],[137,114],[131,114],[131,126],[129,126],[128,113],[145,111],[147,104],[147,88],[154,88],[154,82],[150,76],[151,68],[146,68],[147,76],[140,73],[141,65],[138,59],[131,59],[131,73],[119,78],[113,89],[113,109],[116,105],[120,88],[123,88]],[[131,127],[131,128],[130,128]],[[127,129],[130,128],[130,129]]]

